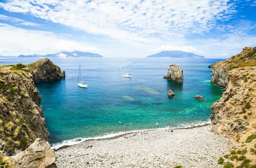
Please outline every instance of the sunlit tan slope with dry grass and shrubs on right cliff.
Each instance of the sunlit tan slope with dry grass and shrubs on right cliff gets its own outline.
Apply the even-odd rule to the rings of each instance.
[[[228,70],[228,86],[215,104],[221,115],[218,134],[233,140],[230,153],[220,158],[223,167],[256,167],[256,47],[217,63]]]

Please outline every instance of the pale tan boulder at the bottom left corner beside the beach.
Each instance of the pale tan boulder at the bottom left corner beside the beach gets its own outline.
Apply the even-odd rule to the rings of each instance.
[[[50,148],[48,142],[41,138],[36,138],[35,142],[24,151],[20,151],[11,157],[12,167],[35,167],[45,168],[51,167],[56,168],[54,161],[56,155],[54,150]]]

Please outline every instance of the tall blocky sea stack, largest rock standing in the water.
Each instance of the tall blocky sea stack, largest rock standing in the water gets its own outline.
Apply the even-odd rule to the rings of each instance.
[[[164,78],[173,82],[182,83],[183,70],[179,68],[179,65],[172,64],[169,66],[167,76],[164,76]]]

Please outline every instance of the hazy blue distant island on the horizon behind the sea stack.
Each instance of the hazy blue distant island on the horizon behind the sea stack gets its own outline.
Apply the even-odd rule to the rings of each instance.
[[[203,55],[196,55],[192,52],[184,52],[181,50],[164,50],[162,52],[158,52],[157,54],[148,55],[148,58],[205,58]]]

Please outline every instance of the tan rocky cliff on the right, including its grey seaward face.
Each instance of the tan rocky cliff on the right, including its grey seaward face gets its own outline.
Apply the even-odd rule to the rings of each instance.
[[[246,151],[244,156],[256,164],[256,47],[245,47],[240,54],[216,63],[211,81],[225,88],[211,106],[213,132],[231,138],[235,148]]]

